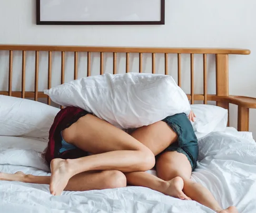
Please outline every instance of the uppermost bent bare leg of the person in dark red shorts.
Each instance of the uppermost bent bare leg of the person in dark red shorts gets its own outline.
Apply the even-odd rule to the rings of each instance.
[[[63,131],[67,143],[94,155],[78,159],[53,159],[52,195],[60,195],[68,180],[89,170],[145,171],[155,164],[152,151],[138,140],[93,115],[86,115]]]

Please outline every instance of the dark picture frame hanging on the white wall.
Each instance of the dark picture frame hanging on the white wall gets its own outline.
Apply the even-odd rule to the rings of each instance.
[[[127,0],[129,1],[129,0]],[[41,21],[41,0],[36,0],[37,25],[164,25],[165,0],[161,0],[160,21]]]

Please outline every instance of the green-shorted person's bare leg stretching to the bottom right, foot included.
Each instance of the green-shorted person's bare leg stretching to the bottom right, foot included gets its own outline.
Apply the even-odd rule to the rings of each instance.
[[[192,200],[216,212],[238,213],[235,207],[223,210],[208,189],[190,180],[191,170],[188,158],[176,151],[163,153],[156,162],[157,176],[164,180],[170,180],[176,176],[182,177],[184,180],[183,191]]]

